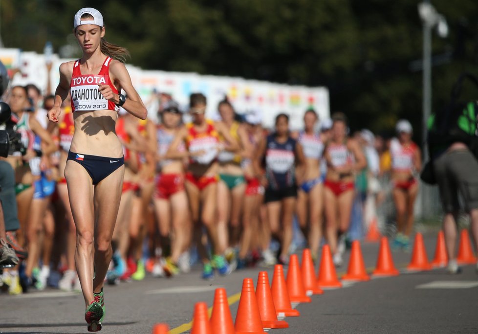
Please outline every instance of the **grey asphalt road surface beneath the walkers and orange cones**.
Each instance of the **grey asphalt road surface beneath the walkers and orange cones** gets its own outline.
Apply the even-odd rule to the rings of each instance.
[[[435,233],[425,234],[428,257],[434,255]],[[376,263],[378,244],[363,244],[366,267]],[[403,269],[411,254],[393,253]],[[346,259],[347,264],[348,259]],[[172,333],[189,333],[194,304],[212,306],[214,289],[226,288],[233,318],[238,308],[242,279],[257,281],[260,268],[217,277],[199,278],[199,267],[174,279],[147,276],[142,282],[107,286],[107,314],[101,333],[151,333],[155,323],[167,323]],[[344,273],[347,265],[338,269]],[[272,279],[272,269],[267,270]],[[458,275],[444,269],[406,273],[326,290],[299,304],[301,316],[286,318],[288,329],[269,333],[478,333],[478,274],[475,266]],[[0,333],[88,333],[79,294],[54,289],[21,296],[0,295]]]

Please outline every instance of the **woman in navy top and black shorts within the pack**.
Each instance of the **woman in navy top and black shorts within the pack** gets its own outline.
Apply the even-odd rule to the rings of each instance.
[[[281,242],[279,263],[287,264],[292,243],[292,217],[296,205],[297,184],[303,181],[304,153],[302,146],[289,134],[289,116],[276,117],[276,132],[262,140],[255,156],[255,170],[261,175],[265,157],[265,174],[261,177],[265,187],[264,202],[271,234]],[[282,228],[281,228],[282,223]]]

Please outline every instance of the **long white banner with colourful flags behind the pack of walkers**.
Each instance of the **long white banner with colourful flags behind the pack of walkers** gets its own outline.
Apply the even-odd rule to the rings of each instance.
[[[52,69],[48,75],[45,57],[35,52],[22,52],[20,49],[0,48],[0,60],[12,71],[18,68],[12,85],[35,84],[43,93],[48,80],[53,93],[59,82],[58,67],[71,59],[58,59],[52,56]],[[171,95],[187,111],[189,95],[201,92],[207,97],[207,115],[217,118],[217,104],[225,97],[233,104],[239,114],[259,112],[262,124],[267,128],[274,126],[275,116],[285,112],[290,116],[290,127],[302,127],[304,111],[314,109],[321,119],[330,117],[328,89],[325,87],[289,86],[237,77],[199,75],[197,73],[166,72],[144,70],[127,65],[133,86],[140,94],[148,116],[157,119],[160,93]]]

